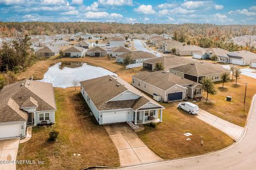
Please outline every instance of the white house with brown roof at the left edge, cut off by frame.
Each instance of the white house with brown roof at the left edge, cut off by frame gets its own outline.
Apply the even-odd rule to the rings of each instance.
[[[0,91],[0,138],[25,137],[27,124],[55,123],[51,83],[22,80]]]

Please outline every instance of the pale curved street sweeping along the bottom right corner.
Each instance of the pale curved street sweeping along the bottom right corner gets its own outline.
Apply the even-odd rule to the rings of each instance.
[[[244,136],[230,147],[197,157],[169,160],[122,169],[255,169],[256,95],[253,96]]]

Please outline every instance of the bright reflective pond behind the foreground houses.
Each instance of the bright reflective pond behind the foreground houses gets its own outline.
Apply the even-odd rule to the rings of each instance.
[[[44,74],[44,79],[38,80],[42,82],[52,83],[53,87],[67,88],[73,87],[74,81],[84,81],[102,77],[104,75],[117,75],[102,67],[89,65],[81,62],[63,62],[56,63],[49,67]],[[77,86],[80,84],[78,83]]]

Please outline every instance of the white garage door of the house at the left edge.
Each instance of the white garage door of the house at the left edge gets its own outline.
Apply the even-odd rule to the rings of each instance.
[[[0,138],[20,137],[20,124],[0,126]]]

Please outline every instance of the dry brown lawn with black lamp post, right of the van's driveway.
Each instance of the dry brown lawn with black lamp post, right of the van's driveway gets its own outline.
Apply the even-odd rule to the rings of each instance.
[[[195,104],[198,104],[199,108],[205,109],[205,111],[226,121],[244,126],[251,105],[251,99],[256,94],[256,80],[241,75],[237,82],[237,86],[235,85],[235,80],[227,82],[224,84],[224,88],[222,88],[222,83],[215,84],[217,94],[209,96],[211,102],[199,102]],[[248,83],[248,86],[246,102],[244,104],[245,83]],[[225,100],[227,96],[232,97],[231,102]]]

